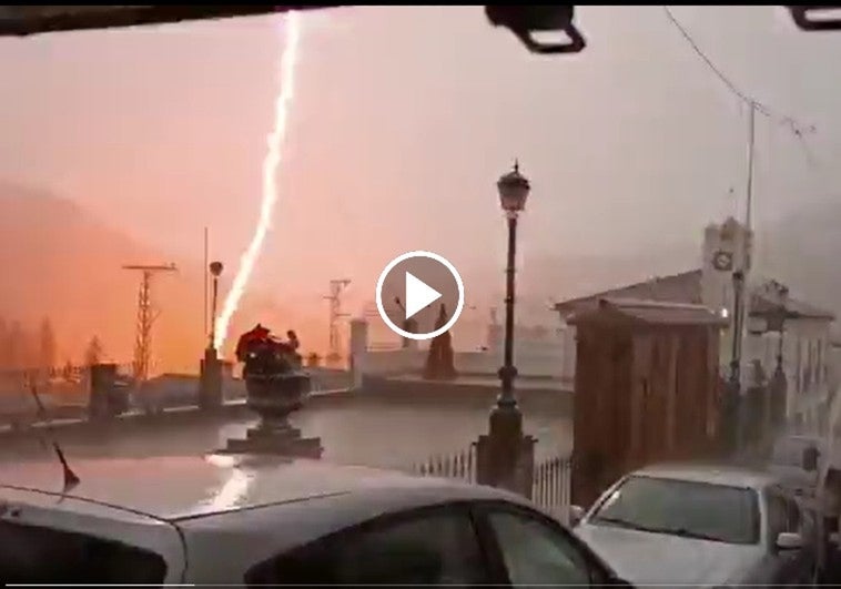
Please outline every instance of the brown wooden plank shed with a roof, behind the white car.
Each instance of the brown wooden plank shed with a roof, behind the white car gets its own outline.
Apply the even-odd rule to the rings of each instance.
[[[573,501],[647,464],[716,450],[720,331],[701,305],[600,298],[577,332]]]

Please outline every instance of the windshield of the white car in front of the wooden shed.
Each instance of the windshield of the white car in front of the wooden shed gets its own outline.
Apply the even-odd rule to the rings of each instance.
[[[759,541],[756,491],[689,480],[630,477],[590,524],[728,544]]]

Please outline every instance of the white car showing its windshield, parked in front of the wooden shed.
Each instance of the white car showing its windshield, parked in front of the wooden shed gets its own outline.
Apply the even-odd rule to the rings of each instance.
[[[813,518],[777,478],[749,469],[637,470],[575,532],[637,587],[810,585],[814,573]]]

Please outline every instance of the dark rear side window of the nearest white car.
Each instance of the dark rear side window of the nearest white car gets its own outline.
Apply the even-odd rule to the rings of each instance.
[[[257,585],[450,585],[488,580],[467,509],[422,510],[331,535],[255,567]]]

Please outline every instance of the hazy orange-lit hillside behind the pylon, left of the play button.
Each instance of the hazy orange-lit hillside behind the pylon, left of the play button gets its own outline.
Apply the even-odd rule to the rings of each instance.
[[[179,272],[154,281],[161,312],[154,356],[159,369],[193,370],[205,345],[201,261],[173,260],[135,243],[71,201],[0,183],[0,317],[34,328],[49,316],[61,362],[79,360],[93,335],[111,359],[130,362],[140,273],[122,266],[169,262]],[[294,325],[307,347],[317,348],[326,339],[321,316],[292,313],[252,290],[231,334],[256,321],[278,331]]]

